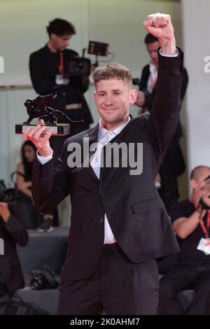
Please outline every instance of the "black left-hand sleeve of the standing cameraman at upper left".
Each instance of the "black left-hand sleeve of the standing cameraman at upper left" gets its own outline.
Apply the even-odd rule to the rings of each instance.
[[[55,83],[55,77],[50,77],[45,73],[40,56],[36,53],[30,55],[29,71],[37,94],[49,94],[57,90],[58,86]]]

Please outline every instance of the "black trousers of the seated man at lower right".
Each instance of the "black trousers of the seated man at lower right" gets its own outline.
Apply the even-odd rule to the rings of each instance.
[[[184,311],[177,295],[186,289],[194,289],[195,297]],[[175,265],[160,280],[159,294],[158,315],[210,315],[210,264]]]

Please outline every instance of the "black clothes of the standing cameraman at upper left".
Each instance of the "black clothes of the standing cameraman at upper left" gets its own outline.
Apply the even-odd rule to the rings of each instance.
[[[68,71],[69,60],[73,57],[78,57],[78,53],[65,49],[64,55],[64,72]],[[55,77],[59,70],[59,52],[51,52],[48,45],[33,52],[29,59],[29,69],[31,75],[31,81],[34,89],[38,94],[50,94],[57,92],[57,99],[49,104],[53,109],[63,111],[73,120],[83,119],[85,124],[88,125],[85,129],[88,129],[89,124],[92,123],[92,116],[90,109],[87,106],[83,92],[85,92],[89,86],[88,76],[70,77],[68,85],[57,85]],[[66,109],[67,104],[82,104],[80,109]],[[57,123],[69,123],[64,116],[57,115]],[[80,124],[78,124],[80,125]],[[80,125],[81,129],[83,125]],[[84,130],[84,129],[82,129]]]

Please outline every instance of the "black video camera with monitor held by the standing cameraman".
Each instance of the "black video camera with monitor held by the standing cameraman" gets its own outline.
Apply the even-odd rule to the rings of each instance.
[[[83,57],[73,57],[69,59],[67,70],[65,72],[66,76],[90,76],[90,59],[85,58],[85,50],[83,49]],[[107,56],[109,55],[109,43],[102,43],[97,41],[89,41],[88,54],[97,56]],[[94,66],[98,65],[98,61]]]

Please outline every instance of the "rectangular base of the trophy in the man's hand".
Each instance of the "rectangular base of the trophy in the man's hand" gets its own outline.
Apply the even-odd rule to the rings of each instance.
[[[22,123],[15,125],[15,134],[24,134],[29,128],[35,127],[36,124],[23,125]],[[69,123],[57,123],[55,126],[46,126],[43,134],[47,134],[49,130],[53,130],[52,136],[66,136],[70,133]]]

